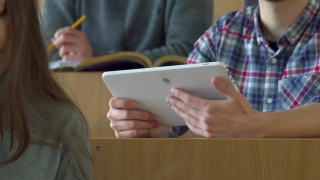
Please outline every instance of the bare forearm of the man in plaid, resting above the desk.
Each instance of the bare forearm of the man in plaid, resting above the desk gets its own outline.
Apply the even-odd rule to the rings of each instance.
[[[279,112],[259,112],[262,137],[299,138],[320,135],[320,103]]]

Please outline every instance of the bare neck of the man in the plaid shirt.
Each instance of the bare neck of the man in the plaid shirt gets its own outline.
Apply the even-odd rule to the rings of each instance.
[[[276,41],[297,20],[309,0],[259,0],[260,26],[269,41]]]

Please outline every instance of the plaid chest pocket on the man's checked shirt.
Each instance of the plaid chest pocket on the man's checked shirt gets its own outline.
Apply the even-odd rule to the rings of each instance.
[[[319,73],[288,76],[278,81],[279,110],[313,102],[319,96]]]

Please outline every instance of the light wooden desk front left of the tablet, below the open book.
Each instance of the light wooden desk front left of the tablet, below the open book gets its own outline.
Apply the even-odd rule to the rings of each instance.
[[[106,118],[112,94],[102,81],[102,72],[54,72],[61,86],[82,111],[90,138],[115,137]],[[181,137],[199,137],[187,132]]]

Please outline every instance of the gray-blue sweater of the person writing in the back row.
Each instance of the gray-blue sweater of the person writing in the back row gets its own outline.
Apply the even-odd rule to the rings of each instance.
[[[212,9],[212,0],[45,0],[42,25],[50,43],[57,29],[85,14],[78,29],[87,34],[93,56],[129,50],[154,61],[187,56],[210,26]],[[59,58],[57,49],[49,56]]]

